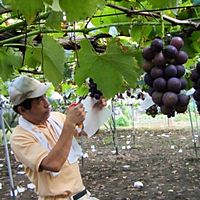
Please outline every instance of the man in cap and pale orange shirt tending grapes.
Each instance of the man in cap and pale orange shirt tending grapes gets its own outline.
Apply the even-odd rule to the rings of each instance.
[[[85,119],[80,103],[66,114],[51,112],[45,96],[50,84],[28,76],[16,78],[9,87],[13,109],[20,114],[11,134],[11,148],[36,186],[39,200],[92,200],[85,189],[78,158],[82,155],[77,126]],[[102,108],[105,101],[99,101]]]

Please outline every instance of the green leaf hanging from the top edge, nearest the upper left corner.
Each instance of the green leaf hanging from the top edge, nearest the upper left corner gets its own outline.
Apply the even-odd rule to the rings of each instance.
[[[12,8],[15,11],[21,13],[28,24],[31,24],[37,13],[43,8],[43,2],[41,0],[12,0]]]

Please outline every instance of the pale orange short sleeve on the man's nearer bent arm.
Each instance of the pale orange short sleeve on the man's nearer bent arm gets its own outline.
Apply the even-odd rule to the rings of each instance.
[[[34,171],[39,171],[42,160],[49,153],[31,133],[23,130],[11,135],[10,144],[16,159]]]

